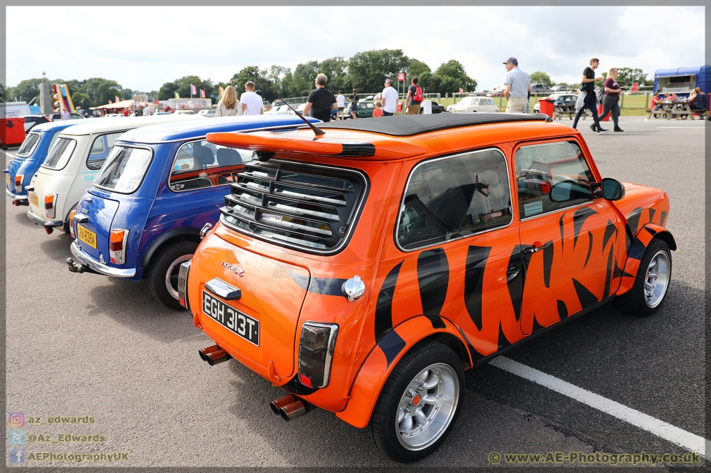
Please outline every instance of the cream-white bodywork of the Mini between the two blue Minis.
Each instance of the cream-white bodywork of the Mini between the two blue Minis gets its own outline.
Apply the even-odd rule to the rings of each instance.
[[[161,124],[170,121],[185,121],[203,119],[197,115],[160,115],[160,116],[135,116],[123,118],[111,118],[101,121],[92,121],[87,124],[77,124],[64,129],[58,138],[73,138],[76,146],[69,158],[69,162],[64,168],[55,170],[41,166],[37,173],[33,175],[29,187],[34,187],[33,192],[37,195],[37,207],[29,202],[29,212],[36,219],[44,222],[63,222],[69,218],[69,212],[79,202],[82,195],[92,186],[100,169],[92,170],[87,168],[87,157],[92,143],[97,136],[104,134],[128,131],[141,126]],[[55,214],[53,219],[48,219],[43,207],[44,196],[56,194]],[[28,199],[29,201],[30,199]],[[63,230],[63,225],[57,228]]]

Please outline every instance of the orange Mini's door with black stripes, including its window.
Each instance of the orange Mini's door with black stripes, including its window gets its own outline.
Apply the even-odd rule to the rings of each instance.
[[[625,239],[611,203],[594,197],[596,180],[575,141],[527,143],[513,161],[524,266],[520,323],[530,335],[614,293]]]

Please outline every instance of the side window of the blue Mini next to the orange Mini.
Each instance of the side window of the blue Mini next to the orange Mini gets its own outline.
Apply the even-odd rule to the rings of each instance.
[[[236,183],[237,173],[250,161],[252,151],[217,146],[205,140],[185,143],[176,153],[168,186],[182,192]]]

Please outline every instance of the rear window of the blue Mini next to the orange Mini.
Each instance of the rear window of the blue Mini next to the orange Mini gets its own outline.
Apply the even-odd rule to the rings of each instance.
[[[124,194],[134,192],[141,185],[152,156],[144,148],[114,146],[95,185]]]

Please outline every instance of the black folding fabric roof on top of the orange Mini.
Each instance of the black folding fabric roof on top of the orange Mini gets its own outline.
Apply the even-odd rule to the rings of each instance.
[[[460,126],[507,123],[511,121],[552,121],[546,114],[504,114],[496,112],[469,114],[422,114],[378,116],[316,124],[320,129],[370,131],[391,136],[412,136],[428,131],[447,130]],[[300,128],[306,128],[302,126]]]

